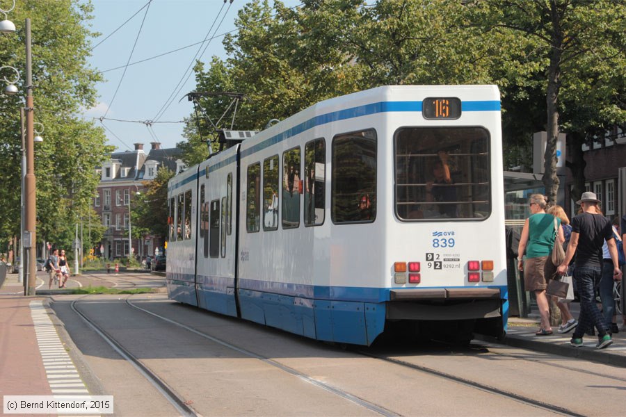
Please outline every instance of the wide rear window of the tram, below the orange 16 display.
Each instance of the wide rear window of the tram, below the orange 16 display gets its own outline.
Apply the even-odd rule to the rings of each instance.
[[[395,199],[401,220],[484,219],[491,213],[489,133],[482,127],[396,131]]]

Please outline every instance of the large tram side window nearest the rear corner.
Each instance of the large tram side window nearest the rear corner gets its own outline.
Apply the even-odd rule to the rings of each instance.
[[[376,219],[376,131],[332,139],[330,217],[336,224]]]

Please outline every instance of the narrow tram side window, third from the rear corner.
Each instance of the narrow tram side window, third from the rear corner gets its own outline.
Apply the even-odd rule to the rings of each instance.
[[[300,226],[300,147],[282,154],[282,228]]]

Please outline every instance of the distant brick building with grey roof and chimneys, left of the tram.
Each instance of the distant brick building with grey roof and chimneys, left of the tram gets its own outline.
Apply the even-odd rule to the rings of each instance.
[[[132,233],[131,196],[142,193],[145,181],[154,179],[162,167],[173,172],[181,172],[186,168],[178,148],[161,149],[159,142],[151,142],[152,148],[146,154],[143,143],[134,145],[133,151],[114,152],[109,161],[97,168],[100,182],[93,205],[106,231],[102,242],[94,250],[97,256],[106,259],[127,257],[130,253],[141,259],[154,254],[156,248],[163,246],[157,236],[136,236]],[[129,245],[129,241],[132,245]]]

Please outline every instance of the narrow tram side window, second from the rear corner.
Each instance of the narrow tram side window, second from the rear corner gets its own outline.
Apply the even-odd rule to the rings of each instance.
[[[323,224],[324,185],[326,183],[326,143],[323,139],[316,139],[305,145],[305,206],[304,218],[306,226]]]

